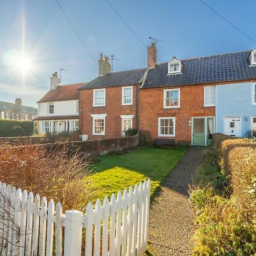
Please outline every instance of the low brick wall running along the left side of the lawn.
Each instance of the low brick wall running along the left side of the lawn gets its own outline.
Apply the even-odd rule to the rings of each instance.
[[[63,142],[63,143],[49,143],[41,144],[40,146],[47,147],[48,150],[55,150],[55,148],[68,147],[69,150],[78,150],[85,154],[108,154],[108,152],[120,148],[135,148],[139,146],[139,137],[134,135],[131,137],[121,137],[115,139],[102,139],[101,141],[75,141],[75,142]]]

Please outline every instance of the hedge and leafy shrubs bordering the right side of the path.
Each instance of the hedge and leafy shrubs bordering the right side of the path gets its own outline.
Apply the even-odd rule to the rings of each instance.
[[[193,255],[256,255],[256,139],[214,134],[196,183]]]

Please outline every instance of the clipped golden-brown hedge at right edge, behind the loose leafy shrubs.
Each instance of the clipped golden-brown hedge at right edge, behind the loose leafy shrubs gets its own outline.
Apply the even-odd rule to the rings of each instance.
[[[213,135],[213,147],[228,176],[238,205],[256,214],[256,139]]]

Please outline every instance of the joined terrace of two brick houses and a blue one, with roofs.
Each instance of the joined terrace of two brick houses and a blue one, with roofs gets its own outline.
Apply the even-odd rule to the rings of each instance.
[[[80,88],[83,139],[115,138],[133,127],[150,131],[152,140],[205,146],[214,132],[243,136],[238,126],[256,129],[256,109],[251,106],[256,105],[255,50],[184,60],[173,57],[157,64],[152,43],[147,60],[147,68],[111,73],[108,57],[100,55],[99,76]],[[229,111],[236,105],[229,96],[239,98],[243,89],[247,93],[242,101],[250,104],[241,113],[241,108]],[[230,104],[224,104],[225,98]],[[218,110],[216,123],[216,109],[223,110],[222,106],[226,112]],[[251,125],[246,124],[248,119]]]

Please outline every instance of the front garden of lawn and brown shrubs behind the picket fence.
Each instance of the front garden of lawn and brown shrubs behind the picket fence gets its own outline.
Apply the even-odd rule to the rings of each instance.
[[[70,157],[66,146],[0,146],[0,181],[60,201],[64,210],[85,210],[89,201],[123,191],[151,179],[154,196],[164,178],[179,162],[185,147],[141,147],[125,154],[97,156],[90,164],[78,152]],[[112,152],[112,153],[113,153]],[[95,160],[95,159],[94,159]]]

